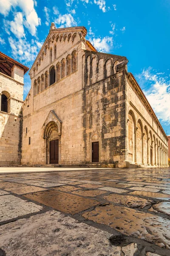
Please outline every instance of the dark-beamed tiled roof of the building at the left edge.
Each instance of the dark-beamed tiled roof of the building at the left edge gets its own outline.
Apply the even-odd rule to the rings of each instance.
[[[8,55],[6,55],[3,52],[0,52],[0,65],[1,68],[3,69],[3,66],[8,69],[8,71],[6,71],[7,75],[9,76],[9,73],[11,72],[11,67],[16,64],[17,66],[23,68],[24,70],[24,74],[29,70],[29,67],[26,67],[25,65],[21,64],[20,62],[14,60],[13,58],[9,57]]]

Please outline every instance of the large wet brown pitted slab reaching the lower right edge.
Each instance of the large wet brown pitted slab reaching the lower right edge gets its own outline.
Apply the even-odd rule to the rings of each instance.
[[[170,248],[170,220],[113,204],[98,206],[82,215],[84,218],[113,227],[124,235],[144,239]]]

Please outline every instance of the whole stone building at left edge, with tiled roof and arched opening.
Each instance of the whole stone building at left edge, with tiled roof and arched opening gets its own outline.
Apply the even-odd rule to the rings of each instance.
[[[21,162],[23,77],[28,67],[0,52],[0,166]]]

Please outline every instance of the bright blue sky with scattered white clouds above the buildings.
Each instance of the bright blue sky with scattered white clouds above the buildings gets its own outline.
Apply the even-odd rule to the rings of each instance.
[[[170,0],[0,0],[0,50],[31,67],[51,22],[85,26],[98,51],[126,56],[170,134]]]

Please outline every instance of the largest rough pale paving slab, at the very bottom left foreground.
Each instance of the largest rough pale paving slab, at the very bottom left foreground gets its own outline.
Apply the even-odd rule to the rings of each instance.
[[[133,256],[137,244],[111,245],[111,234],[54,210],[0,227],[6,256]]]

